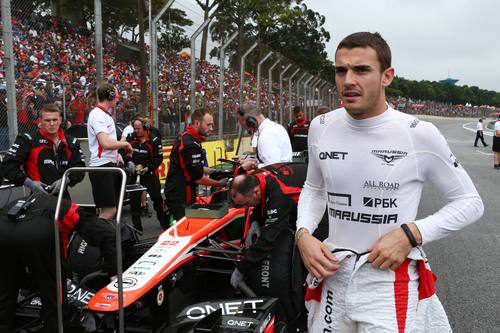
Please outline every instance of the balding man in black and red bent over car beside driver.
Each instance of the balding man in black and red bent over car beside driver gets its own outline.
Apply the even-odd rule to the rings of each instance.
[[[306,178],[303,163],[278,163],[234,178],[231,198],[236,205],[254,207],[244,260],[237,264],[231,284],[243,279],[259,296],[280,299],[291,329],[303,306],[303,270],[294,254],[297,200]]]

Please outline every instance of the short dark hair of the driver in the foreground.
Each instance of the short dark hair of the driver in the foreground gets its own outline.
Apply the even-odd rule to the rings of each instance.
[[[383,72],[387,68],[391,67],[391,48],[382,38],[382,36],[378,33],[371,32],[355,32],[350,34],[349,36],[342,39],[339,46],[337,46],[337,50],[335,51],[335,55],[340,49],[354,49],[356,47],[370,47],[375,50],[377,53],[378,62],[380,63],[380,71]]]

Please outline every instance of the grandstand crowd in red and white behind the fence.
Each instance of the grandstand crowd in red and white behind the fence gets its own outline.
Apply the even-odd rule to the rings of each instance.
[[[52,16],[15,11],[12,12],[12,27],[14,52],[17,58],[15,72],[19,130],[33,129],[40,107],[54,101],[65,103],[67,118],[72,124],[84,123],[88,112],[95,104],[96,67],[93,32],[87,27],[57,20]],[[104,76],[119,89],[121,99],[116,110],[117,120],[126,122],[139,112],[140,69],[137,64],[116,58],[119,42],[126,41],[117,36],[105,35]],[[0,67],[2,67],[3,49],[0,52]],[[215,119],[218,119],[219,66],[198,61],[197,73],[197,105],[204,104],[210,107],[215,113]],[[175,136],[189,115],[190,75],[189,57],[183,56],[182,53],[181,55],[172,52],[159,53],[159,128],[165,137]],[[274,84],[273,89],[276,92],[277,83]],[[225,132],[236,129],[235,111],[239,108],[239,85],[239,74],[226,70],[223,89]],[[246,99],[255,99],[255,87],[256,78],[251,73],[245,72],[243,95]],[[0,90],[5,90],[4,84],[0,86]],[[286,86],[283,91],[286,103],[288,87]],[[269,116],[277,119],[280,109],[279,94],[269,95],[267,80],[262,80],[260,96],[261,107],[267,108],[270,105],[272,114]],[[295,102],[295,94],[292,96],[292,101]],[[446,117],[482,115],[481,108],[477,107],[412,101],[403,97],[391,101],[397,109],[412,114]],[[285,108],[288,109],[288,105],[285,105]],[[0,118],[6,117],[2,115]],[[3,120],[6,122],[6,119]],[[285,120],[288,120],[286,116]]]

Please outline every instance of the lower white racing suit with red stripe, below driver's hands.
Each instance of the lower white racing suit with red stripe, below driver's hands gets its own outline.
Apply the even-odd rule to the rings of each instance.
[[[334,254],[341,265],[335,275],[307,276],[309,332],[451,332],[420,248],[396,271],[373,268],[368,253]]]

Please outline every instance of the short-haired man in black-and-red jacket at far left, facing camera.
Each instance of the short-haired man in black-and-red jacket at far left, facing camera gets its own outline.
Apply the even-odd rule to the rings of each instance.
[[[64,172],[71,167],[85,166],[79,141],[64,133],[61,121],[57,105],[42,106],[40,128],[17,136],[5,155],[1,176],[31,191],[45,193],[48,189],[51,194],[59,193]],[[84,174],[71,174],[69,185],[79,183],[83,177]],[[66,192],[65,196],[69,197],[69,194]]]

